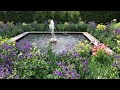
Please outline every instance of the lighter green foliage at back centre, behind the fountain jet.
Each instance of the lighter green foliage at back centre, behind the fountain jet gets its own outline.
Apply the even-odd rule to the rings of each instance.
[[[45,20],[54,19],[57,22],[74,22],[80,21],[79,11],[36,11],[34,20],[42,23]]]

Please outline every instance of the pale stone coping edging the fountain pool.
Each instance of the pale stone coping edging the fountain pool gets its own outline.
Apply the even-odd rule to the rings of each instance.
[[[19,34],[18,36],[15,36],[11,39],[11,42],[13,41],[17,41],[19,39],[21,39],[22,37],[26,36],[27,34],[50,34],[51,32],[39,32],[39,31],[31,31],[31,32],[24,32],[22,34]],[[94,36],[92,36],[91,34],[89,34],[88,32],[54,32],[55,34],[83,34],[90,42],[93,43],[93,45],[96,45],[98,43],[100,43],[100,41],[98,39],[96,39]],[[106,48],[107,51],[110,52],[110,54],[113,54],[113,51],[110,48]]]

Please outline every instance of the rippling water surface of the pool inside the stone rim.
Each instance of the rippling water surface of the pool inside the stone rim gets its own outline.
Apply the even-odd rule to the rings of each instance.
[[[22,40],[27,40],[34,44],[37,48],[41,50],[42,53],[46,53],[48,48],[51,48],[56,54],[71,48],[79,41],[88,40],[82,33],[55,33],[56,43],[50,43],[49,40],[52,38],[51,33],[29,33],[24,35],[24,37],[17,40],[17,42],[22,42]],[[19,44],[21,47],[22,43]]]

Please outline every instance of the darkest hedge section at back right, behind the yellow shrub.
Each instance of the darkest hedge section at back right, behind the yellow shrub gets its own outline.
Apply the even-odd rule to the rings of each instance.
[[[83,21],[95,21],[97,23],[110,22],[112,19],[120,21],[120,11],[80,11]]]

